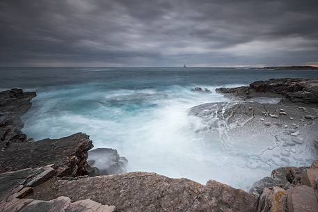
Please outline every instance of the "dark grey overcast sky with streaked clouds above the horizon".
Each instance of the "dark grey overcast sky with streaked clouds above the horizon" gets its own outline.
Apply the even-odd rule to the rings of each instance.
[[[0,66],[318,64],[318,0],[0,0]]]

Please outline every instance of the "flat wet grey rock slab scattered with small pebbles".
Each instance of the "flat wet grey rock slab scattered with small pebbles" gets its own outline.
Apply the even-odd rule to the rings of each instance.
[[[284,112],[284,113],[281,113]],[[205,133],[237,155],[249,155],[249,168],[307,166],[317,158],[318,109],[310,106],[220,102],[195,106]],[[312,115],[315,119],[306,119]]]

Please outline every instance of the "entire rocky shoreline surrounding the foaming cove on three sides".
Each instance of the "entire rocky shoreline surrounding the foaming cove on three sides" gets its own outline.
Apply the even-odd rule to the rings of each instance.
[[[220,133],[214,128],[221,120],[225,141],[274,140],[275,148],[255,158],[283,166],[250,193],[213,180],[204,186],[156,173],[122,174],[127,159],[116,149],[90,151],[84,133],[35,142],[22,133],[21,120],[35,92],[13,89],[0,92],[0,211],[318,211],[318,165],[303,166],[318,155],[318,80],[271,79],[217,92],[235,101],[196,106],[189,115],[210,133]],[[289,167],[292,160],[300,167]]]

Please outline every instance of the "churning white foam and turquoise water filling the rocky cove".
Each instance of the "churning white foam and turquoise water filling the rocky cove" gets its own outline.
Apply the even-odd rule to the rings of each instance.
[[[189,108],[226,100],[215,88],[201,87],[212,93],[178,85],[165,90],[40,92],[24,117],[24,132],[38,140],[81,131],[90,135],[95,147],[118,149],[127,157],[129,171],[186,177],[202,184],[216,179],[248,188],[269,172],[252,172],[243,165],[248,154],[232,155],[218,138],[197,133],[206,126],[198,117],[188,116]]]

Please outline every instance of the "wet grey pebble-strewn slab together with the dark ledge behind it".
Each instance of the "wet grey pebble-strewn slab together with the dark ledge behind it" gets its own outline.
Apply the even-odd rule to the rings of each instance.
[[[318,79],[269,79],[216,91],[233,101],[195,106],[189,115],[200,117],[201,133],[220,138],[224,149],[238,155],[250,149],[247,167],[305,166],[317,158]],[[267,103],[273,98],[280,101]]]

